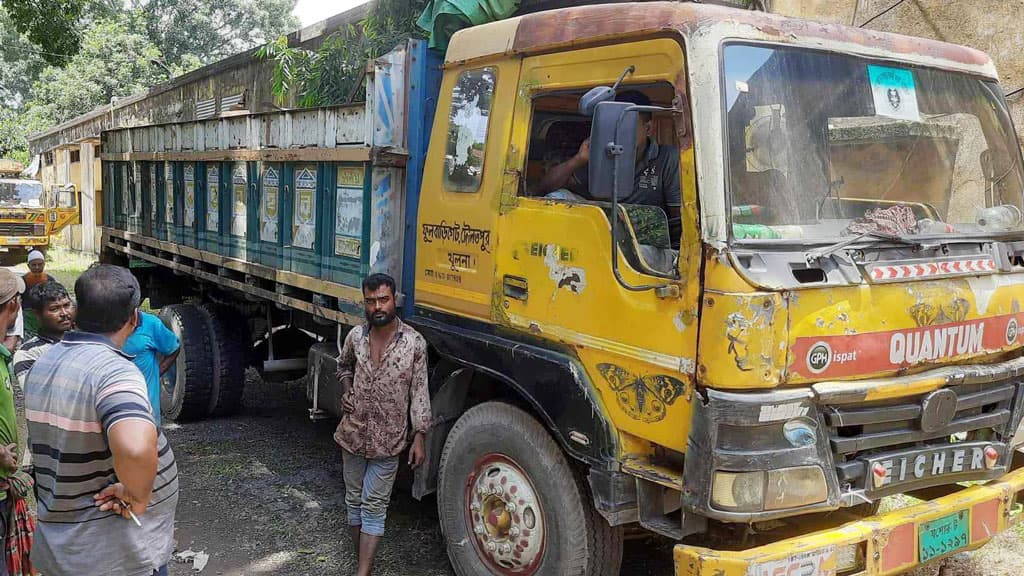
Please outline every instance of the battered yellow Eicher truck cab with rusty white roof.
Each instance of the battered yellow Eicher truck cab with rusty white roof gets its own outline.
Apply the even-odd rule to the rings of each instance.
[[[486,513],[515,508],[496,478],[719,542],[678,546],[682,574],[889,574],[1004,529],[1024,483],[1024,171],[988,57],[623,10],[474,27],[445,56],[411,322],[451,362],[442,403],[509,387],[586,469],[558,491],[473,438],[500,424],[442,426],[442,526],[475,544],[450,553],[542,562],[505,546],[525,519]],[[572,194],[544,194],[588,138]],[[929,503],[863,520],[895,493]]]

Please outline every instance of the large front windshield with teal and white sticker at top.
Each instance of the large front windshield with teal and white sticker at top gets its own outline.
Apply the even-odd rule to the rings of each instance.
[[[995,82],[805,49],[724,49],[732,238],[1024,231]]]

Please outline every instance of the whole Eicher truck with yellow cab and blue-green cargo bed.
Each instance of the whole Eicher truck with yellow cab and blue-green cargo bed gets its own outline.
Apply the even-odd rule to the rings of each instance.
[[[1024,170],[984,53],[652,2],[367,70],[360,104],[204,118],[184,82],[102,134],[102,257],[182,336],[169,417],[249,365],[338,416],[385,272],[457,574],[616,574],[638,529],[679,575],[896,574],[1017,523]]]

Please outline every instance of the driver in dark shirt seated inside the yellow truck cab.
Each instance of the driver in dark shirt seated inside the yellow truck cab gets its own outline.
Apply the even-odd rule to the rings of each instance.
[[[616,101],[636,106],[650,106],[650,98],[637,90],[622,92]],[[673,146],[658,145],[653,136],[654,126],[650,112],[640,112],[637,124],[637,152],[633,190],[623,204],[656,206],[669,218],[669,233],[674,248],[679,247],[682,232],[679,192],[679,150]],[[537,192],[541,196],[558,200],[587,200],[590,198],[589,167],[590,138],[580,145],[575,156],[552,166],[541,179]]]

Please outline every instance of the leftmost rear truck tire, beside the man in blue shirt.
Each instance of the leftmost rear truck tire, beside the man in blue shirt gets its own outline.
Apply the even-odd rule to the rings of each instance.
[[[160,319],[181,342],[168,378],[161,380],[161,412],[171,420],[199,420],[210,408],[213,356],[206,314],[193,304],[160,310]]]

